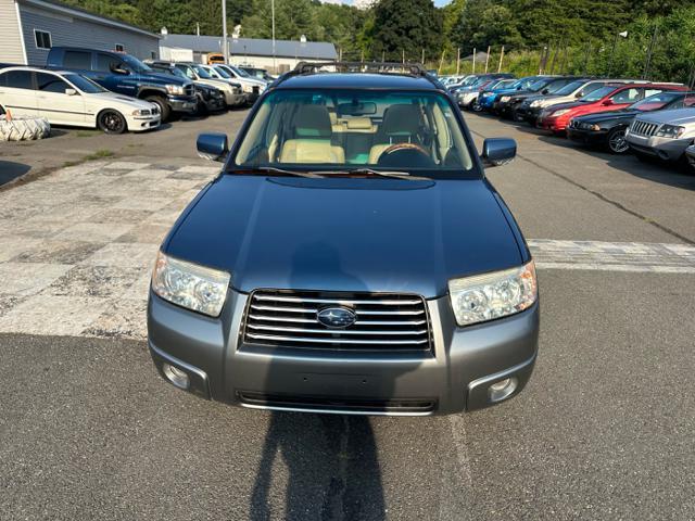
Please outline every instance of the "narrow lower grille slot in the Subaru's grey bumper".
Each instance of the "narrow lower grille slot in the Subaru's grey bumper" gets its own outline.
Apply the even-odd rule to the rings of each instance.
[[[252,407],[274,409],[308,409],[334,412],[427,415],[437,407],[433,399],[337,398],[323,396],[286,396],[278,394],[238,392],[239,401]]]

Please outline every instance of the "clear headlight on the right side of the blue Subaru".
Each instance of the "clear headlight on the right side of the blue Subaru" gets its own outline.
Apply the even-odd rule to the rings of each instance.
[[[448,295],[459,326],[484,322],[522,312],[538,298],[535,266],[448,281]]]

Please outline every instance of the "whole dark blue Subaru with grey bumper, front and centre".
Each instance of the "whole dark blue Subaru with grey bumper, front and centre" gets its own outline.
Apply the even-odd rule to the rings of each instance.
[[[250,408],[410,416],[523,389],[535,270],[483,170],[516,143],[479,156],[441,84],[394,66],[300,65],[231,151],[198,138],[224,167],[164,240],[148,306],[168,382]]]

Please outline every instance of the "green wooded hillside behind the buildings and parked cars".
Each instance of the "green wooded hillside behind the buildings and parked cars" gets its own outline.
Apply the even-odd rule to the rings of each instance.
[[[65,1],[154,31],[222,33],[219,0]],[[431,0],[377,0],[368,10],[318,0],[275,3],[278,39],[331,41],[346,60],[420,61],[425,54],[428,66],[453,72],[459,52],[490,46],[497,64],[504,46],[503,68],[517,74],[680,81],[695,74],[695,0],[452,0],[441,9]],[[245,37],[270,37],[270,0],[227,0],[227,16],[230,31],[241,25]],[[617,36],[626,30],[627,38]]]

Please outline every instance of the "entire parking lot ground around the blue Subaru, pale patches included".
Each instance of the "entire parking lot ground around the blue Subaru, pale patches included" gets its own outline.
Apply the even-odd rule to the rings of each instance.
[[[235,409],[156,374],[144,304],[161,237],[215,175],[197,134],[231,138],[244,114],[0,143],[37,177],[0,191],[0,512],[695,518],[695,176],[466,115],[478,144],[519,147],[488,173],[539,266],[527,390],[451,417]]]

